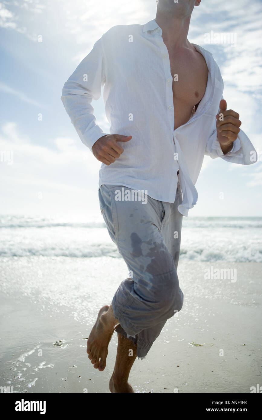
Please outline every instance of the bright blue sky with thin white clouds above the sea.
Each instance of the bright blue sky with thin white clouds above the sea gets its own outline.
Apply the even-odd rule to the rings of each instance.
[[[0,1],[1,214],[100,214],[100,162],[71,124],[63,84],[108,29],[145,24],[155,13],[155,0]],[[192,13],[188,39],[213,54],[228,109],[240,114],[259,161],[205,156],[189,217],[262,216],[261,21],[262,0],[202,0]],[[223,32],[231,41],[214,43],[212,34]],[[92,105],[109,132],[102,95]]]

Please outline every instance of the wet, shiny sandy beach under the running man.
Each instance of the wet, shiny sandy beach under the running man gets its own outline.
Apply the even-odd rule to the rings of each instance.
[[[204,270],[236,268],[236,281]],[[14,392],[106,393],[117,335],[104,372],[86,354],[86,337],[103,304],[127,278],[113,257],[2,257],[1,386]],[[104,275],[102,275],[104,273]],[[145,360],[136,360],[136,393],[249,393],[261,383],[262,263],[181,261],[184,305]],[[260,382],[259,382],[260,381]]]

